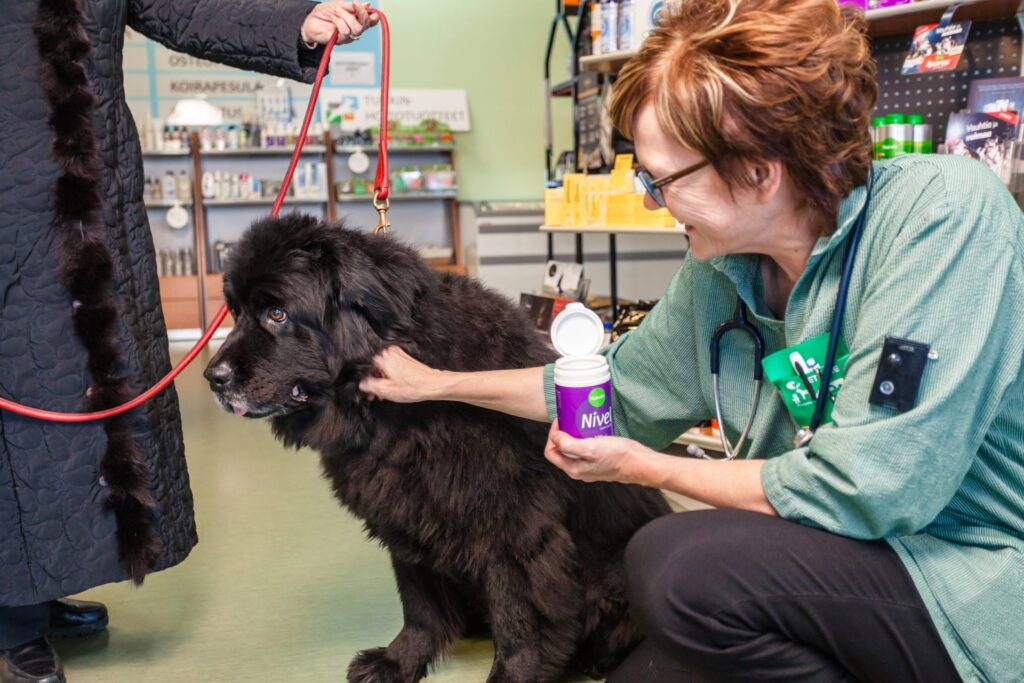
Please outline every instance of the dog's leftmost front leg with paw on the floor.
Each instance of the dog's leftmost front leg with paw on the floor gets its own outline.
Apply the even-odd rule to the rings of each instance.
[[[462,635],[466,609],[456,588],[422,565],[391,558],[404,625],[387,647],[359,652],[348,666],[352,683],[415,683]]]

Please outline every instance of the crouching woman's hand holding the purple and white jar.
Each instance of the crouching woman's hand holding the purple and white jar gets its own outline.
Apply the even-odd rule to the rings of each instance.
[[[557,420],[551,425],[544,457],[573,479],[641,485],[650,485],[652,469],[664,458],[642,443],[620,436],[573,438],[559,431]]]

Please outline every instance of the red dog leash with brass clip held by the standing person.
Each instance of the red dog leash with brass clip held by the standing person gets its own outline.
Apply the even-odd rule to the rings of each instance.
[[[390,92],[390,71],[391,71],[391,30],[388,27],[387,18],[384,13],[379,9],[371,9],[371,12],[377,14],[380,18],[381,24],[381,133],[380,133],[380,154],[377,157],[377,178],[374,183],[374,208],[380,214],[380,223],[378,223],[376,232],[382,231],[387,228],[387,210],[389,206],[388,195],[390,193],[390,183],[388,181],[388,166],[387,166],[387,137],[388,137],[388,126],[387,126],[387,100],[388,93]],[[292,176],[295,175],[295,169],[299,165],[299,158],[302,156],[302,146],[306,141],[306,135],[309,132],[309,124],[312,122],[313,113],[316,110],[316,100],[319,97],[321,85],[324,83],[324,76],[327,74],[328,65],[331,62],[331,51],[334,46],[338,43],[338,33],[335,32],[331,36],[331,40],[328,41],[324,48],[324,56],[321,59],[319,69],[316,71],[316,81],[313,83],[312,92],[309,94],[309,104],[306,105],[306,116],[302,121],[302,130],[299,133],[298,140],[295,144],[295,152],[292,153],[292,161],[288,165],[288,172],[285,174],[285,181],[281,185],[281,191],[278,193],[278,199],[273,203],[273,208],[270,209],[270,217],[275,218],[279,213],[281,213],[281,207],[285,203],[285,197],[288,195],[288,188],[292,184]],[[213,333],[217,331],[220,324],[224,322],[224,317],[227,315],[227,304],[221,304],[220,310],[214,315],[213,322],[210,327],[207,328],[206,332],[200,338],[196,345],[193,346],[191,350],[185,355],[181,361],[175,366],[171,372],[167,373],[160,382],[155,384],[153,387],[147,389],[145,392],[139,394],[135,398],[122,403],[116,408],[111,408],[105,411],[97,411],[95,413],[54,413],[52,411],[41,411],[38,408],[29,408],[28,405],[22,405],[20,403],[15,403],[14,401],[7,400],[6,398],[0,398],[0,409],[5,411],[10,411],[11,413],[16,413],[17,415],[24,415],[25,417],[35,418],[36,420],[45,420],[47,422],[94,422],[96,420],[105,420],[106,418],[113,418],[122,413],[127,413],[128,411],[134,410],[150,400],[158,393],[166,389],[171,383],[180,375],[185,368],[196,359],[196,356],[200,354],[200,351],[210,343],[213,338]]]

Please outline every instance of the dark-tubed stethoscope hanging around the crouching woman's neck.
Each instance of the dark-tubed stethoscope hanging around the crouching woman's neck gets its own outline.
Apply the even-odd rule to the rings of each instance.
[[[867,197],[864,198],[864,206],[861,208],[860,214],[857,216],[857,221],[854,223],[853,231],[850,234],[850,247],[846,252],[843,275],[839,281],[839,292],[836,294],[836,311],[833,313],[828,347],[825,352],[825,364],[821,368],[821,379],[818,384],[821,388],[818,389],[818,394],[814,400],[814,413],[811,417],[810,425],[806,428],[802,427],[798,429],[797,435],[793,439],[793,445],[797,449],[810,443],[811,437],[814,436],[814,432],[821,425],[821,419],[825,413],[825,405],[829,397],[829,392],[825,390],[825,387],[831,384],[833,369],[836,366],[836,353],[839,348],[839,338],[843,331],[843,316],[846,313],[846,297],[850,290],[850,279],[853,276],[853,263],[857,255],[857,246],[860,244],[860,236],[864,231],[864,223],[867,222],[867,206],[871,199],[873,176],[873,170],[868,169]],[[722,440],[722,451],[725,455],[722,458],[714,458],[708,455],[702,449],[693,445],[687,449],[691,455],[698,455],[707,460],[733,460],[739,455],[751,432],[751,426],[754,424],[754,418],[758,413],[758,403],[761,400],[761,384],[764,380],[764,368],[762,368],[761,361],[765,357],[765,341],[758,329],[751,323],[749,315],[750,309],[737,295],[736,308],[733,311],[732,319],[725,321],[718,326],[718,329],[715,330],[715,334],[711,338],[711,387],[715,397],[715,417],[718,420],[718,434]],[[725,435],[725,423],[722,420],[721,394],[718,386],[722,337],[734,330],[748,335],[754,342],[754,396],[751,399],[751,410],[746,415],[746,424],[743,425],[743,430],[739,433],[739,438],[736,440],[735,445],[730,443],[729,437]]]

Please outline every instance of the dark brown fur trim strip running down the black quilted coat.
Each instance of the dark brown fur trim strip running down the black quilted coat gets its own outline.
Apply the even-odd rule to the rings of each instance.
[[[121,351],[112,289],[114,261],[100,220],[95,97],[85,69],[91,45],[80,1],[39,0],[34,32],[41,57],[40,79],[51,108],[53,157],[60,166],[53,197],[60,272],[74,299],[75,331],[89,356],[92,387],[86,408],[97,411],[130,398],[130,387],[117,373]],[[141,584],[161,555],[150,476],[128,418],[109,419],[104,429],[106,452],[100,471],[110,493],[106,506],[117,519],[125,573]]]

